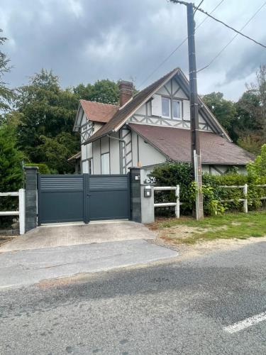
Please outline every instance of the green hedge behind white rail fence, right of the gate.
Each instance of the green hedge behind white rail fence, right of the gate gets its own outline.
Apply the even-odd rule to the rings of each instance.
[[[182,202],[181,213],[192,214],[196,188],[192,179],[192,165],[187,163],[167,162],[158,165],[148,175],[149,183],[157,186],[180,186],[180,201]],[[207,215],[223,214],[226,211],[240,211],[243,209],[243,202],[239,199],[245,198],[243,189],[229,189],[221,186],[248,184],[248,205],[249,209],[260,209],[262,201],[260,197],[266,196],[266,188],[256,185],[266,184],[266,177],[255,177],[254,175],[240,175],[238,173],[228,173],[226,175],[202,176],[204,195],[204,213]],[[221,200],[233,200],[233,202],[221,202]],[[155,192],[155,203],[174,202],[174,192]],[[170,216],[174,214],[172,207],[155,209],[155,213],[160,216]]]

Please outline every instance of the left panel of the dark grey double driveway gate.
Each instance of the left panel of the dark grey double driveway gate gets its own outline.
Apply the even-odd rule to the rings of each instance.
[[[39,225],[83,221],[83,201],[83,175],[39,175]]]

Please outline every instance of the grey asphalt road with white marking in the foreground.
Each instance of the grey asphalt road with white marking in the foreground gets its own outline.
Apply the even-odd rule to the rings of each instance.
[[[0,354],[266,354],[265,252],[260,242],[1,290]]]

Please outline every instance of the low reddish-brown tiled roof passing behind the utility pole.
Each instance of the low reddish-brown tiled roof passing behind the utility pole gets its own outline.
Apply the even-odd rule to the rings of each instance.
[[[164,126],[129,124],[148,143],[172,160],[189,162],[190,130]],[[253,155],[211,132],[200,132],[201,160],[204,164],[245,165]]]

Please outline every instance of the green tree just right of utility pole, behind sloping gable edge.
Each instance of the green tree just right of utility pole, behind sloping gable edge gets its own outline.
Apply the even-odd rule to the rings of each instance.
[[[224,99],[221,92],[211,92],[211,94],[204,95],[202,99],[220,124],[228,131],[231,138],[235,140],[236,135],[233,130],[236,114],[235,104]]]

